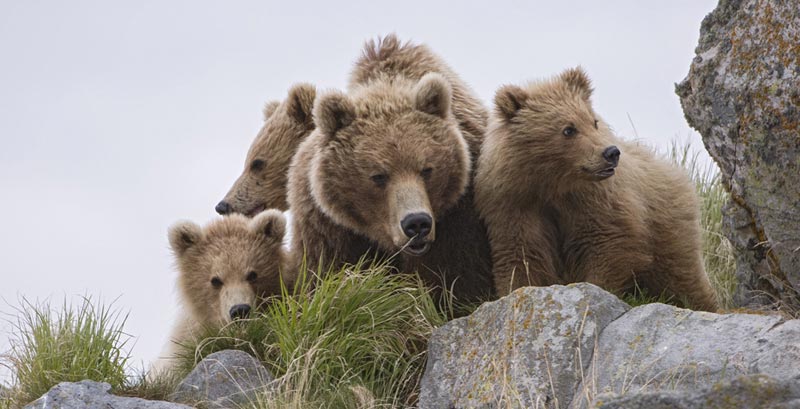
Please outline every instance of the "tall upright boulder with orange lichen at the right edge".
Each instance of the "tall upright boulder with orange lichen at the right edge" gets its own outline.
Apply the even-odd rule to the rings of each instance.
[[[800,7],[722,0],[676,87],[730,187],[740,305],[800,304]]]

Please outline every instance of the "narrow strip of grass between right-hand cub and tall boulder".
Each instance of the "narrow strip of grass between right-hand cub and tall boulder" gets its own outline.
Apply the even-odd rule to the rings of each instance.
[[[722,206],[729,195],[722,185],[720,173],[713,163],[703,164],[700,153],[691,144],[673,141],[669,158],[691,177],[700,202],[700,225],[703,229],[703,260],[706,273],[717,295],[720,307],[733,307],[736,291],[736,258],[733,246],[722,233]]]

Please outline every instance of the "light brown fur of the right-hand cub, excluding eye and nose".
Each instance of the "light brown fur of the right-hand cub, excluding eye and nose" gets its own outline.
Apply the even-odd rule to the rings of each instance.
[[[580,68],[549,81],[505,86],[476,175],[498,293],[588,281],[618,294],[717,303],[703,270],[694,188],[679,168],[617,139],[592,109]],[[565,136],[565,128],[577,134]],[[622,152],[615,174],[602,152]],[[512,279],[513,277],[513,279]]]

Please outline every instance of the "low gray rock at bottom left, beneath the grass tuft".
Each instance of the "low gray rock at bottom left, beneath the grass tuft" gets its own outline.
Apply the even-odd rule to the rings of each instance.
[[[125,398],[108,393],[105,382],[61,382],[24,409],[190,409],[179,403]]]

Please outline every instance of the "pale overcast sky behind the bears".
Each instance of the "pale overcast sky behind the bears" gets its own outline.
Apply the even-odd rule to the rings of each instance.
[[[715,1],[337,3],[0,2],[0,312],[119,297],[135,359],[153,359],[176,314],[167,227],[215,217],[265,101],[344,88],[380,34],[427,43],[487,104],[580,64],[620,136],[630,117],[654,146],[701,146],[674,83]]]

